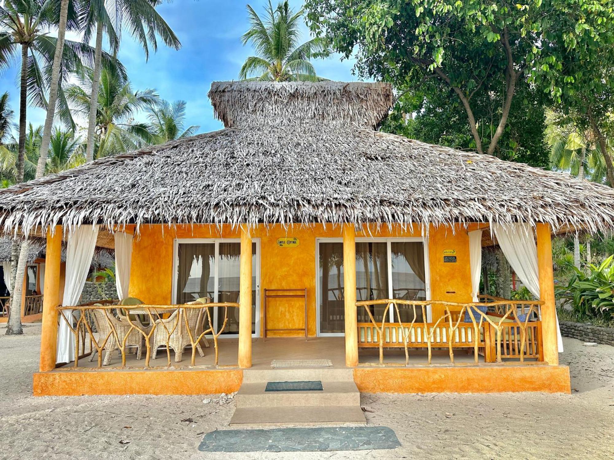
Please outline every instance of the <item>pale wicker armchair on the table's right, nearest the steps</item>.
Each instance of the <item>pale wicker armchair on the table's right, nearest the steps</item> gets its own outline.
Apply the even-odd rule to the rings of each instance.
[[[192,303],[202,304],[202,302]],[[185,318],[187,318],[187,323],[194,339],[203,332],[203,309],[177,309],[168,318],[156,320],[155,331],[153,331],[152,337],[152,359],[156,359],[158,348],[166,347],[166,342],[168,341],[168,346],[175,352],[175,362],[181,362],[181,356],[185,347],[192,346],[190,334],[188,334],[185,327]],[[176,321],[179,322],[173,331]],[[171,331],[172,333],[169,337],[169,332]],[[196,349],[198,350],[198,354],[203,357],[204,352],[200,343],[196,344]]]

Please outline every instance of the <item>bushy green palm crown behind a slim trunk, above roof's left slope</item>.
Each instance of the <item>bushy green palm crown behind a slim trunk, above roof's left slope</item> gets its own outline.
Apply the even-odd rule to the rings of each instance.
[[[68,100],[82,115],[91,111],[89,91],[82,86],[91,88],[92,74],[90,70],[82,85],[69,85],[65,90]],[[97,102],[93,143],[96,158],[135,150],[142,144],[154,142],[155,136],[149,131],[149,126],[134,123],[133,117],[138,110],[157,104],[158,94],[155,90],[133,91],[127,79],[103,67]]]

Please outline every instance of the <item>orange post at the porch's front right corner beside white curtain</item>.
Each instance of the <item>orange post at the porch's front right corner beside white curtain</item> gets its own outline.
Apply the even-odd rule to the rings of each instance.
[[[542,305],[543,359],[552,366],[559,364],[558,339],[556,337],[556,302],[554,301],[554,274],[552,269],[552,242],[550,224],[538,223],[537,263]]]

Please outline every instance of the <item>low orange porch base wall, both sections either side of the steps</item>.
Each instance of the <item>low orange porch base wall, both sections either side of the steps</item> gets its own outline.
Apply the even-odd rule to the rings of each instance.
[[[96,394],[212,394],[238,391],[240,369],[55,370],[34,374],[34,396]],[[357,367],[367,393],[570,393],[567,366]]]

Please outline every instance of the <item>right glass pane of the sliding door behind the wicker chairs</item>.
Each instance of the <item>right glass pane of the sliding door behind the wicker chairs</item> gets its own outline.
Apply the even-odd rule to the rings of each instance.
[[[239,259],[241,243],[219,242],[217,265],[217,302],[239,302]],[[252,334],[256,331],[256,243],[252,243]],[[224,321],[223,309],[216,309],[216,327],[222,327]],[[239,333],[239,309],[228,309],[228,323],[222,334]]]

